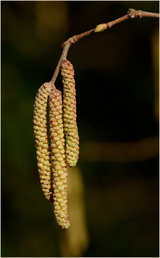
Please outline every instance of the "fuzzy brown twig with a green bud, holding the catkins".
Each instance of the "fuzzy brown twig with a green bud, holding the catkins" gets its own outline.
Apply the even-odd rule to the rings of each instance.
[[[134,10],[132,8],[130,8],[128,10],[128,14],[120,17],[119,19],[116,19],[114,21],[110,21],[108,23],[103,23],[103,24],[99,24],[97,25],[96,28],[90,30],[90,31],[86,31],[82,34],[79,34],[79,35],[75,35],[73,36],[72,38],[68,39],[66,42],[62,43],[61,45],[61,49],[63,49],[63,52],[62,52],[62,56],[58,62],[58,65],[56,67],[56,70],[54,72],[54,75],[52,77],[52,80],[50,81],[52,83],[52,88],[55,89],[55,86],[54,86],[54,82],[56,80],[56,77],[58,75],[58,72],[59,72],[59,69],[60,69],[60,65],[61,65],[61,62],[63,59],[66,59],[66,56],[67,56],[67,53],[68,53],[68,49],[70,47],[70,45],[72,43],[76,43],[79,39],[82,39],[88,35],[90,35],[91,33],[94,33],[94,32],[101,32],[101,31],[104,31],[105,29],[110,29],[112,26],[120,23],[121,21],[125,21],[129,18],[142,18],[142,17],[155,17],[155,18],[159,18],[159,13],[149,13],[149,12],[144,12],[144,11],[137,11],[137,10]]]

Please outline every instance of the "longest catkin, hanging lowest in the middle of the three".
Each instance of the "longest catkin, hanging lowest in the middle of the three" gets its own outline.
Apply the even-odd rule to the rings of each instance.
[[[64,149],[62,95],[53,90],[49,97],[50,148],[53,173],[54,214],[60,227],[70,226],[67,212],[67,169]]]

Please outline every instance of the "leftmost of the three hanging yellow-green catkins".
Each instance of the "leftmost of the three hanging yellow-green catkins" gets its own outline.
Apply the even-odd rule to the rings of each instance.
[[[45,82],[38,90],[34,104],[33,128],[36,143],[37,166],[44,196],[53,202],[52,168],[50,163],[50,148],[46,125],[47,101],[52,90],[52,84]]]

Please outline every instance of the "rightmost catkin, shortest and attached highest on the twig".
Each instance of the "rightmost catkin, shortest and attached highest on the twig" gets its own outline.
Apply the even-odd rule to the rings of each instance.
[[[66,134],[66,162],[76,166],[79,154],[79,137],[76,122],[76,90],[73,65],[68,60],[61,63],[63,83],[63,120]]]

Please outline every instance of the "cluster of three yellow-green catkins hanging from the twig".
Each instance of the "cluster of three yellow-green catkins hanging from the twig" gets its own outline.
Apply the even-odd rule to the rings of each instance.
[[[44,196],[54,204],[54,214],[60,227],[70,226],[67,211],[67,169],[74,167],[79,154],[76,123],[76,90],[74,70],[68,60],[61,63],[62,94],[52,90],[52,83],[44,83],[38,90],[34,104],[33,128],[37,166]],[[49,136],[47,131],[47,102],[49,103]],[[64,139],[66,136],[66,144]]]

